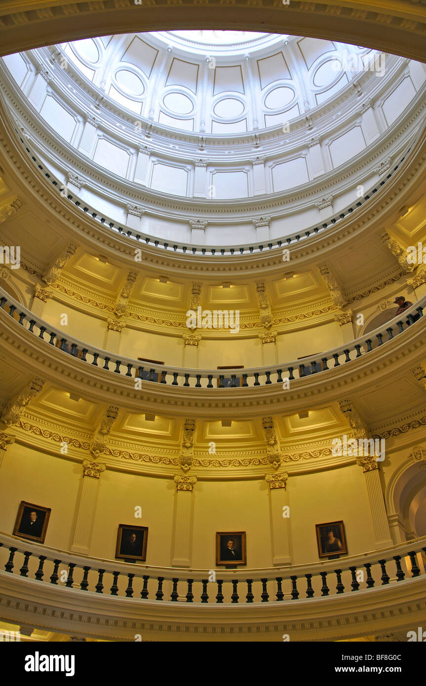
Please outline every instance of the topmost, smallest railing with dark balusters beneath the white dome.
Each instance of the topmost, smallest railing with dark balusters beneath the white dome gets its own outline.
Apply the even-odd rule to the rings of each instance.
[[[15,131],[19,135],[19,131],[16,129]],[[36,157],[34,151],[29,149],[28,141],[23,141],[21,137],[19,137],[19,140],[25,147],[27,153],[31,156],[32,161],[34,161],[34,163],[37,165],[38,169],[40,169],[40,171],[43,172],[45,177],[49,179],[51,184],[54,185],[54,187],[56,187],[58,193],[62,193],[62,195],[64,196],[64,191],[65,189],[67,189],[66,185],[64,185],[62,181],[58,180],[58,178],[56,178],[56,176],[52,174],[50,169],[46,169],[43,166],[40,159]],[[117,222],[114,222],[112,219],[110,219],[110,217],[107,217],[104,214],[99,214],[99,212],[90,204],[81,200],[80,198],[78,198],[78,196],[74,196],[72,193],[69,193],[68,190],[66,197],[68,198],[68,200],[73,202],[75,206],[79,207],[88,216],[93,217],[93,219],[97,220],[97,222],[99,222],[100,224],[103,224],[104,226],[109,226],[111,230],[117,230],[118,233],[124,237],[128,237],[142,243],[145,242],[147,245],[154,246],[155,248],[161,246],[162,248],[165,248],[165,250],[173,252],[181,252],[182,254],[188,253],[191,255],[198,256],[208,255],[209,257],[211,257],[212,255],[226,255],[226,257],[230,255],[251,255],[252,253],[259,253],[263,250],[272,250],[272,248],[286,248],[291,244],[297,244],[298,241],[306,240],[307,238],[309,238],[309,236],[316,235],[319,231],[322,231],[329,226],[333,226],[337,222],[342,221],[345,217],[352,215],[353,212],[355,212],[359,207],[361,207],[368,200],[370,200],[370,198],[372,198],[375,195],[375,193],[377,193],[377,191],[379,191],[381,187],[386,184],[386,181],[390,179],[390,177],[394,174],[395,171],[397,171],[397,169],[399,169],[399,166],[403,163],[405,157],[411,149],[412,145],[410,145],[410,147],[407,148],[405,154],[401,157],[399,162],[396,165],[394,165],[394,167],[388,170],[388,174],[386,175],[386,177],[383,178],[381,181],[377,182],[375,187],[372,187],[368,191],[368,193],[362,196],[362,198],[358,198],[356,202],[347,205],[338,214],[335,214],[333,217],[327,217],[327,222],[320,222],[318,226],[309,226],[309,228],[307,228],[306,230],[299,231],[299,233],[297,233],[296,235],[283,237],[281,239],[268,239],[267,241],[264,241],[263,244],[258,244],[257,246],[250,246],[246,244],[244,246],[239,246],[237,248],[221,248],[220,246],[211,248],[206,246],[184,245],[182,243],[179,243],[178,241],[160,241],[156,237],[148,235],[147,233],[138,233],[137,231],[130,230],[130,228],[128,228],[127,226],[120,226],[119,224],[117,224]]]

